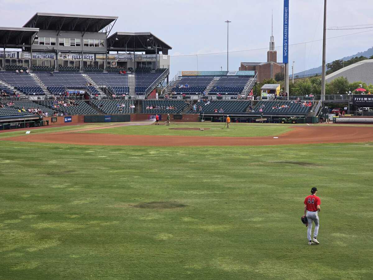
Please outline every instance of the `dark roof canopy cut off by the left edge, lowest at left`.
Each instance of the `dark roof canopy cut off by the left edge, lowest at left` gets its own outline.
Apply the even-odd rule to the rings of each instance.
[[[39,28],[0,27],[0,47],[29,47],[31,36],[38,31]]]

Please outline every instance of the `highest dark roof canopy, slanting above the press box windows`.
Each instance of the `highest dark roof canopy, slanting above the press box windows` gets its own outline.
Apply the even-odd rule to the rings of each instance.
[[[23,27],[40,28],[41,30],[109,32],[117,16],[75,15],[63,13],[35,13]]]

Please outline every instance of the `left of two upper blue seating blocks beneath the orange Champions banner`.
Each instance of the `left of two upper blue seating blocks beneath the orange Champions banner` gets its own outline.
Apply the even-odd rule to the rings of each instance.
[[[179,77],[179,80],[172,86],[171,92],[176,94],[197,94],[200,95],[206,90],[214,77]],[[187,87],[185,87],[187,85]]]

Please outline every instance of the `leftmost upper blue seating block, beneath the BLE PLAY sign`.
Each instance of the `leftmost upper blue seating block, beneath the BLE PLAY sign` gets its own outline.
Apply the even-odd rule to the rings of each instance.
[[[1,71],[0,80],[14,86],[26,95],[44,95],[43,89],[30,74]]]

